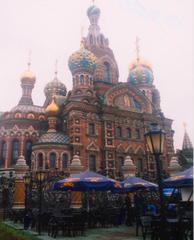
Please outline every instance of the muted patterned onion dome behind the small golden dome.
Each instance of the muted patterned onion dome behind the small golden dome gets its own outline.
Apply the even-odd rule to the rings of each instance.
[[[55,93],[57,96],[66,96],[67,94],[67,88],[65,84],[60,82],[56,77],[53,81],[47,83],[47,85],[44,88],[44,93],[46,96],[51,96]]]

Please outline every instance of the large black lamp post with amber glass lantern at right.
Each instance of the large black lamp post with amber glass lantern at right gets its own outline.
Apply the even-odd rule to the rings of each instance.
[[[157,170],[157,181],[160,196],[160,214],[161,221],[164,220],[164,197],[163,197],[163,186],[162,186],[162,164],[160,160],[160,155],[163,154],[164,149],[164,136],[165,132],[160,129],[157,123],[152,123],[150,130],[145,133],[146,143],[151,152],[154,155],[156,161]]]

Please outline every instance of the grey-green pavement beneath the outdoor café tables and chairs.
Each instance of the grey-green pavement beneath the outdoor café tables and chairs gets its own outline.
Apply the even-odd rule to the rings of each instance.
[[[40,240],[53,240],[47,235],[47,233],[42,233],[41,236],[37,235],[37,232],[31,230],[24,230],[22,224],[13,223],[11,221],[6,221],[6,224],[9,226],[18,229],[20,231],[26,231],[35,235]],[[135,236],[135,227],[134,226],[125,226],[121,225],[119,227],[109,227],[109,228],[94,228],[87,229],[84,233],[84,236],[76,236],[76,237],[64,237],[62,234],[58,234],[56,237],[57,240],[142,240],[142,236]]]

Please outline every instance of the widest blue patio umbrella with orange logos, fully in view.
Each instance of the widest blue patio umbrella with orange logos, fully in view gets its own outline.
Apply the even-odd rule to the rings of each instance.
[[[104,191],[122,188],[121,183],[92,171],[72,174],[70,177],[56,182],[54,190],[72,191]]]

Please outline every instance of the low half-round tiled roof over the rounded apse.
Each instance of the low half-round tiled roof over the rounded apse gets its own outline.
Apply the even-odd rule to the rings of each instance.
[[[69,144],[69,137],[60,132],[47,132],[43,134],[37,144]]]

